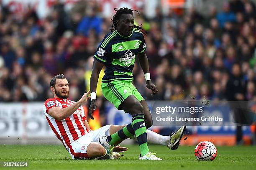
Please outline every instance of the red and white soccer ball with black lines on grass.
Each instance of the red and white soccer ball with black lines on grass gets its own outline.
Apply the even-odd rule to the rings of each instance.
[[[200,142],[195,148],[197,160],[214,160],[217,156],[217,149],[212,142]]]

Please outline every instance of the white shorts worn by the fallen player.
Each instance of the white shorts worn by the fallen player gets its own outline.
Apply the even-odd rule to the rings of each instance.
[[[69,145],[69,154],[72,159],[89,159],[87,156],[87,147],[91,143],[99,142],[100,137],[110,135],[110,125],[100,127],[97,130],[92,130],[88,134],[84,134],[78,140],[73,141]]]

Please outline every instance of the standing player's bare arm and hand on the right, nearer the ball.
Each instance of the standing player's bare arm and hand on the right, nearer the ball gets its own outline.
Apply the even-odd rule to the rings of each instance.
[[[146,53],[138,53],[138,59],[144,74],[149,73],[148,57],[146,56]],[[147,88],[152,90],[153,95],[158,92],[157,87],[151,82],[151,80],[146,80],[146,84]]]

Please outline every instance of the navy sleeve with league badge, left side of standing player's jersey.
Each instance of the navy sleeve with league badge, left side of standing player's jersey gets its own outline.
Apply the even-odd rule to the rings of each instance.
[[[105,64],[108,58],[109,49],[107,46],[108,35],[100,42],[95,55],[93,56],[100,63]]]

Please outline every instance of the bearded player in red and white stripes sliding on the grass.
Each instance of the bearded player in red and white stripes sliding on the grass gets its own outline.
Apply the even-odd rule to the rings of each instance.
[[[51,79],[51,91],[54,93],[53,99],[47,99],[44,103],[44,114],[54,131],[56,137],[63,143],[69,151],[72,159],[98,158],[105,156],[107,151],[100,143],[97,143],[101,136],[115,130],[117,126],[108,125],[95,131],[91,131],[85,118],[83,107],[87,99],[90,99],[90,91],[84,93],[77,101],[70,101],[69,84],[63,74],[59,74]],[[117,130],[119,130],[118,128]],[[115,130],[115,132],[117,131]],[[117,151],[126,151],[125,147],[116,147]],[[113,159],[119,158],[120,154],[114,153]]]

